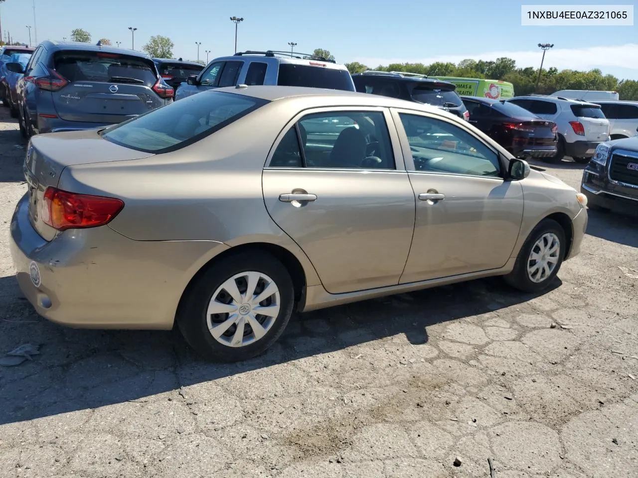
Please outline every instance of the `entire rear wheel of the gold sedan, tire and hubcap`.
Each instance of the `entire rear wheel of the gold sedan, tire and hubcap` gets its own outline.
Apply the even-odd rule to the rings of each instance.
[[[204,358],[236,362],[253,358],[281,336],[292,315],[292,279],[263,252],[213,263],[182,298],[177,325]]]

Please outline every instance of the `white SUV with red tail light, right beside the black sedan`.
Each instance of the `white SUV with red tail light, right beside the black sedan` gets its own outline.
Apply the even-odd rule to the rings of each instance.
[[[571,156],[576,163],[586,164],[596,147],[609,140],[609,120],[595,103],[540,95],[517,96],[506,101],[556,123],[556,156],[544,158],[550,163]]]

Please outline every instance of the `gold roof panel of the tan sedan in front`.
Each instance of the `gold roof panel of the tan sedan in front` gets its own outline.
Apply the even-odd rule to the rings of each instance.
[[[265,99],[267,101],[277,101],[279,99],[292,98],[320,98],[330,101],[332,106],[381,106],[385,108],[409,108],[410,110],[423,110],[426,112],[440,113],[442,110],[436,106],[424,105],[413,101],[390,98],[378,94],[359,93],[355,91],[331,90],[323,88],[297,87],[297,86],[275,86],[275,85],[254,85],[241,87],[216,88],[207,92],[227,92],[251,96],[253,98]],[[206,92],[202,92],[204,94]],[[415,105],[418,105],[415,108]]]

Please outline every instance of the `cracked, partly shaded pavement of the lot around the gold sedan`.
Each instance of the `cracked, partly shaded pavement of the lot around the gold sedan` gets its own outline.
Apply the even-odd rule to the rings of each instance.
[[[211,365],[175,332],[33,313],[7,247],[23,157],[1,108],[0,353],[41,354],[0,367],[0,477],[638,476],[635,219],[591,212],[542,296],[489,279],[330,308]],[[582,166],[549,171],[577,187]]]

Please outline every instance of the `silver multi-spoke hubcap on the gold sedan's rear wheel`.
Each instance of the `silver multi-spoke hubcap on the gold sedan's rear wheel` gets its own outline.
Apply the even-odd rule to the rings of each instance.
[[[277,284],[261,272],[242,272],[226,280],[212,294],[206,322],[212,337],[228,347],[244,347],[260,340],[279,315]]]

